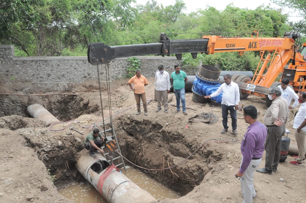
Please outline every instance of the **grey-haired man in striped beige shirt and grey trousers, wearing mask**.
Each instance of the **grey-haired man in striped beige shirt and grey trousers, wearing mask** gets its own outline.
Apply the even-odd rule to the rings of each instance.
[[[271,175],[272,171],[276,172],[278,167],[282,135],[285,132],[289,111],[288,102],[281,97],[282,92],[278,87],[270,87],[268,91],[268,98],[272,100],[272,104],[263,117],[263,122],[268,129],[265,143],[266,163],[264,168],[256,169],[256,171]]]

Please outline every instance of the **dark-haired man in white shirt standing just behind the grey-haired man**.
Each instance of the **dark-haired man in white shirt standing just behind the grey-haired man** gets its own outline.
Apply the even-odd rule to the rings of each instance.
[[[289,86],[289,79],[284,78],[282,79],[281,85],[278,87],[282,92],[282,98],[288,101],[288,108],[293,109],[294,107],[299,105],[299,101],[298,101],[299,97],[294,92],[294,90],[288,86]],[[291,105],[292,99],[294,99],[294,103]]]

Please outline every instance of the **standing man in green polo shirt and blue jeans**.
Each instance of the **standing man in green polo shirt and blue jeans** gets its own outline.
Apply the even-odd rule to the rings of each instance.
[[[180,108],[180,99],[182,102],[183,113],[187,115],[186,111],[186,101],[185,101],[185,82],[188,78],[184,71],[181,71],[179,65],[174,65],[175,71],[171,73],[171,81],[173,81],[173,90],[176,98],[176,111],[177,113],[181,110]]]

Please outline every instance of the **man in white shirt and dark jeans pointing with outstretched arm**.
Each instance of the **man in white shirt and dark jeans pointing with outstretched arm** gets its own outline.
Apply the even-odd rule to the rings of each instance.
[[[233,134],[237,135],[237,113],[238,104],[240,101],[239,87],[237,83],[232,81],[232,77],[229,74],[224,76],[224,83],[218,88],[217,91],[211,95],[204,96],[204,98],[212,98],[218,96],[221,92],[222,95],[222,124],[224,129],[221,131],[222,134],[226,133],[228,130],[227,126],[227,116],[230,110],[230,117],[232,119]]]

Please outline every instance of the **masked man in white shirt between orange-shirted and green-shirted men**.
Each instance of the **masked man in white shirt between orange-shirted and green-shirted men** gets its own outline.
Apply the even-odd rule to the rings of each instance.
[[[170,75],[164,71],[164,66],[159,65],[158,70],[155,73],[156,82],[156,98],[157,98],[157,109],[156,112],[162,110],[164,106],[165,113],[168,113],[168,93],[170,93]]]

